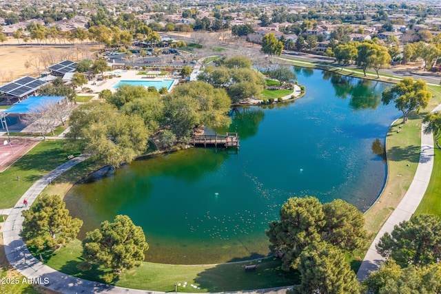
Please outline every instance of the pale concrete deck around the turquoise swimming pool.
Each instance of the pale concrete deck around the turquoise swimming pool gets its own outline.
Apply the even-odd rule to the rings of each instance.
[[[177,83],[178,80],[173,78],[172,76],[163,76],[161,78],[147,78],[145,75],[139,75],[138,72],[140,70],[114,70],[112,72],[105,72],[105,74],[115,75],[113,78],[106,78],[104,81],[89,81],[88,85],[84,87],[90,87],[94,93],[99,93],[103,90],[110,90],[116,92],[116,88],[114,86],[120,81],[163,81],[163,80],[174,80],[174,83],[170,89],[172,89]],[[101,76],[98,74],[97,76]],[[121,76],[121,77],[118,77]],[[94,85],[94,83],[96,85]],[[170,91],[170,90],[169,90]]]

